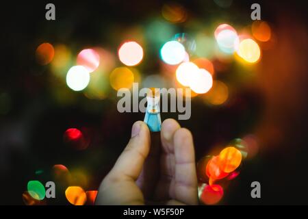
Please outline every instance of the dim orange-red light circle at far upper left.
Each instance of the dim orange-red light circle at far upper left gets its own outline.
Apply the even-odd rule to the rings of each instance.
[[[53,60],[54,55],[55,49],[53,49],[53,45],[48,42],[40,44],[36,49],[36,61],[38,64],[49,64]]]

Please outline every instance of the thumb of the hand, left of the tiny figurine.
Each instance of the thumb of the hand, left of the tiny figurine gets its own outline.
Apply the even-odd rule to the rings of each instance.
[[[148,126],[137,121],[131,129],[131,139],[110,171],[110,177],[136,181],[150,151]]]

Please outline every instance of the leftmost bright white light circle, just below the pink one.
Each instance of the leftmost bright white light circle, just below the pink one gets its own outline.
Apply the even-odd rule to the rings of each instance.
[[[66,75],[67,86],[75,91],[84,90],[90,82],[90,74],[84,66],[73,66]]]

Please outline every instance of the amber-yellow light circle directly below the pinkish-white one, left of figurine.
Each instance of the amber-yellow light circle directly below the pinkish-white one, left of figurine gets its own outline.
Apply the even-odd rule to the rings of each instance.
[[[114,90],[131,88],[133,85],[133,72],[126,67],[115,68],[110,74],[110,85]]]

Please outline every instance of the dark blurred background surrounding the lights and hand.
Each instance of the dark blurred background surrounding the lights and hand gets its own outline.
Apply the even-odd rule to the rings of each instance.
[[[163,1],[51,1],[56,21],[46,21],[45,1],[1,2],[0,92],[10,94],[10,110],[0,115],[0,203],[23,205],[27,181],[51,179],[51,167],[64,164],[86,172],[86,190],[97,190],[125,147],[141,113],[120,114],[110,99],[94,101],[77,94],[77,103],[57,105],[48,86],[49,68],[38,66],[41,42],[62,42],[79,51],[101,45],[116,51],[114,29],[144,23],[160,13]],[[192,101],[192,117],[179,121],[194,136],[196,158],[211,146],[255,133],[259,153],[244,162],[238,178],[224,192],[222,204],[307,204],[307,6],[304,1],[233,1],[229,10],[213,1],[179,1],[202,22],[251,23],[250,6],[260,3],[262,19],[274,27],[277,47],[266,51],[254,84],[242,86],[224,107]],[[179,30],[184,29],[179,24]],[[149,49],[149,60],[155,60]],[[140,68],[155,72],[145,60]],[[115,94],[110,94],[114,95]],[[162,114],[162,119],[177,114]],[[86,127],[85,151],[63,142],[68,127]],[[36,170],[44,174],[36,175]],[[251,198],[250,184],[261,183],[261,198]],[[59,194],[60,192],[57,192]],[[62,192],[63,193],[63,192]],[[63,194],[49,204],[67,204]]]

